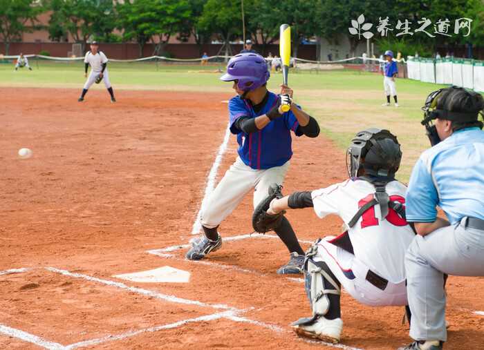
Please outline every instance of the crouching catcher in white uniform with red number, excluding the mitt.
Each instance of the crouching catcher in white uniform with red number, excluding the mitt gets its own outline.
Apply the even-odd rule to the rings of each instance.
[[[350,178],[312,192],[270,202],[269,214],[314,207],[317,216],[336,214],[347,231],[318,240],[306,252],[304,275],[313,316],[292,325],[301,336],[338,342],[343,322],[341,285],[370,306],[407,305],[404,256],[415,234],[404,219],[407,188],[395,180],[402,153],[388,130],[357,133],[348,148]]]

